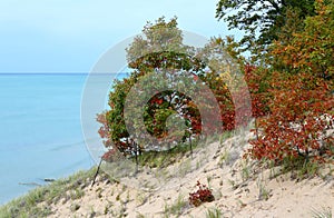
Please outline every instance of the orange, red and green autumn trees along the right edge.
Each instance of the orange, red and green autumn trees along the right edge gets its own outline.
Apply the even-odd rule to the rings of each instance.
[[[316,1],[314,17],[291,41],[273,44],[267,107],[248,155],[269,159],[333,160],[333,4]],[[332,60],[332,61],[331,61]],[[254,99],[257,101],[256,98]]]

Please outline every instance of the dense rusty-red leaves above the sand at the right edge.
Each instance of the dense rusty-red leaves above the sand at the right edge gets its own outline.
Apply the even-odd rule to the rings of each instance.
[[[327,123],[333,121],[333,117],[324,118],[333,110],[333,103],[327,103],[333,102],[333,97],[324,85],[326,81],[306,73],[288,79],[282,75],[275,80],[275,89],[271,90],[274,97],[269,103],[271,116],[259,123],[262,137],[249,141],[253,147],[248,155],[276,162],[284,157],[308,158],[311,153],[315,161],[323,159],[316,151],[325,149],[322,138]]]

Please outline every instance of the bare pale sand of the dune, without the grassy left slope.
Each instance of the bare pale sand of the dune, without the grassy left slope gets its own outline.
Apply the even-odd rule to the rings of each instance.
[[[81,198],[60,199],[52,205],[53,215],[50,217],[197,218],[209,217],[209,211],[222,217],[333,215],[334,176],[330,170],[333,166],[323,170],[322,178],[299,180],[291,172],[279,175],[279,168],[266,169],[242,158],[243,150],[249,146],[246,142],[249,137],[252,133],[244,132],[198,148],[193,158],[185,156],[165,168],[165,176],[157,176],[160,181],[153,182],[156,187],[150,191],[144,190],[145,185],[140,187],[136,180],[151,180],[154,170],[141,170],[137,178],[125,178],[122,182],[109,181],[101,172],[94,187],[82,187],[85,195]],[[186,161],[190,162],[188,170],[176,175]],[[174,175],[168,176],[168,172]],[[197,180],[212,188],[213,202],[199,207],[188,204],[189,192],[196,190]]]

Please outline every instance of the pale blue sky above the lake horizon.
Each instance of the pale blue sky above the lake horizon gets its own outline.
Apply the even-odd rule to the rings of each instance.
[[[0,73],[89,72],[147,21],[178,18],[204,37],[235,34],[215,18],[218,0],[1,0]]]

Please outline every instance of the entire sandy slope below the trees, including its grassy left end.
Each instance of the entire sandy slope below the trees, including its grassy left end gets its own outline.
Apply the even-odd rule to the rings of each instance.
[[[235,148],[233,141],[246,140],[239,137],[235,140],[227,139],[224,143],[212,142],[208,147],[198,148],[194,152],[195,161],[199,160],[198,153],[203,149],[214,150],[207,165],[186,172],[184,177],[177,177],[178,180],[166,180],[166,186],[173,182],[174,186],[145,191],[143,187],[134,188],[134,184],[130,187],[112,180],[101,170],[95,186],[91,187],[97,169],[94,167],[35,189],[29,194],[30,197],[21,197],[16,199],[16,202],[11,201],[0,207],[0,215],[19,205],[31,207],[32,211],[48,217],[205,217],[210,212],[218,212],[224,217],[310,217],[321,212],[333,215],[333,165],[322,169],[321,177],[299,179],[297,174],[282,172],[277,167],[266,169],[254,161],[247,164],[240,159],[242,152],[234,160],[227,160],[226,152]],[[245,142],[238,149],[247,146]],[[186,153],[171,166],[157,171],[170,171],[173,166],[181,165],[189,158]],[[147,171],[139,172],[139,177],[149,179]],[[214,201],[199,207],[189,205],[188,195],[195,190],[196,185],[194,178],[212,188]],[[28,199],[36,202],[29,202]],[[7,210],[3,210],[3,207],[7,207]]]

